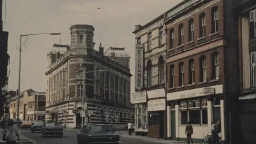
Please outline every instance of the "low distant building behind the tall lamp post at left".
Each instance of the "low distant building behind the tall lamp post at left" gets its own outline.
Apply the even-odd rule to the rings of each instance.
[[[46,92],[36,92],[32,89],[20,93],[20,114],[19,118],[23,121],[35,121],[45,117],[45,95]],[[8,100],[10,118],[17,118],[17,98],[11,97]]]

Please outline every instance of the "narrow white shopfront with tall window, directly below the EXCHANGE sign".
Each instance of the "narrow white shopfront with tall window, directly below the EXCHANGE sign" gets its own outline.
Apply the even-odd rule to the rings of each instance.
[[[147,92],[132,93],[131,103],[135,108],[134,132],[136,135],[147,135],[148,133],[148,110],[147,110]]]

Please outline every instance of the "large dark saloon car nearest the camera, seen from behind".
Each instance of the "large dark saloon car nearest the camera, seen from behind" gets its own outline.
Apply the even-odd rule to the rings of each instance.
[[[85,124],[77,133],[77,144],[86,143],[120,143],[119,135],[107,124]]]

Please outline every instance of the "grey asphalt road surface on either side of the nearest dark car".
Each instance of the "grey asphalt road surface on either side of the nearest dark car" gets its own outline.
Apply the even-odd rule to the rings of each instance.
[[[26,137],[28,137],[31,140],[36,141],[37,144],[50,144],[50,143],[54,143],[54,144],[76,144],[77,140],[76,140],[76,134],[78,132],[78,130],[65,130],[63,133],[63,137],[62,138],[55,138],[55,137],[47,137],[47,138],[42,138],[41,137],[41,133],[40,132],[36,132],[36,133],[31,133],[30,130],[20,130],[20,132],[25,135]],[[117,131],[117,133],[119,134],[119,132]],[[122,134],[122,132],[120,133]],[[121,144],[156,144],[154,142],[148,142],[148,141],[143,141],[143,140],[138,140],[138,139],[131,139],[131,138],[124,138],[124,137],[120,137],[121,138]]]

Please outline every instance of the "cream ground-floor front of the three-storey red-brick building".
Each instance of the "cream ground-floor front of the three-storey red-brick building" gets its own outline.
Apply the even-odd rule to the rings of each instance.
[[[167,137],[186,141],[187,122],[193,125],[194,142],[202,142],[211,133],[211,123],[219,125],[219,137],[225,141],[223,85],[167,93]]]

